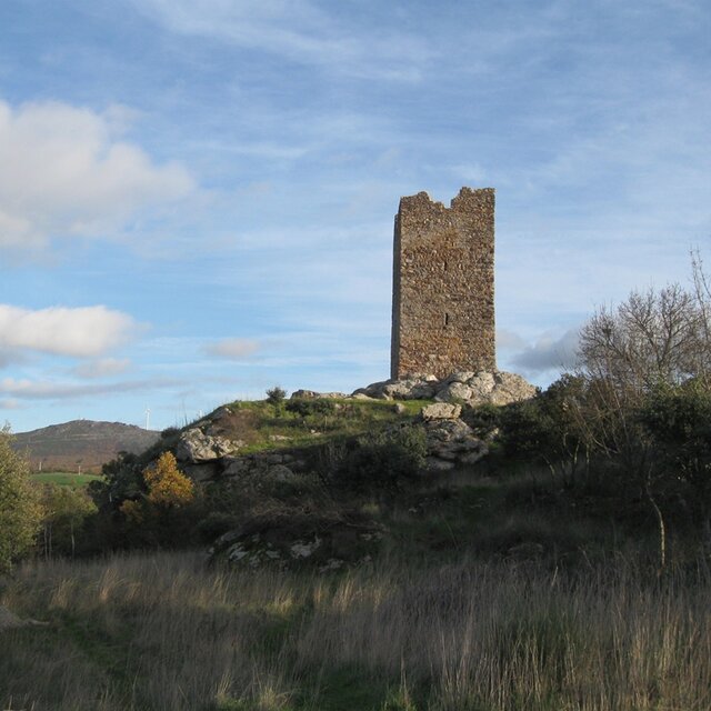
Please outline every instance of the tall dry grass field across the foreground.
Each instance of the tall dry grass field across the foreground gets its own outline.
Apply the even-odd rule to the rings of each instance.
[[[50,562],[3,601],[0,708],[705,711],[711,577],[619,561],[382,562],[339,578],[194,554]]]

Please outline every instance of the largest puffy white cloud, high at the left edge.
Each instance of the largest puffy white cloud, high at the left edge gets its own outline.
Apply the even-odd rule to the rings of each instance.
[[[0,101],[0,249],[113,231],[193,189],[180,164],[154,164],[118,134],[130,111]]]

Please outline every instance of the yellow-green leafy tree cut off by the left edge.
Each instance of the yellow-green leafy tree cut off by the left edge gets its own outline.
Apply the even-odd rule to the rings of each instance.
[[[12,449],[6,427],[0,430],[0,572],[32,549],[41,520],[39,487],[30,480],[28,462]]]

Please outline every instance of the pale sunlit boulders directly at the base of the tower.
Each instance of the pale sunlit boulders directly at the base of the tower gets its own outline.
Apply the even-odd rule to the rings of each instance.
[[[404,380],[374,382],[353,392],[352,397],[368,397],[379,400],[438,400],[462,403],[471,407],[480,404],[509,404],[529,400],[535,388],[521,375],[502,371],[457,372],[443,380],[434,375],[412,375]]]

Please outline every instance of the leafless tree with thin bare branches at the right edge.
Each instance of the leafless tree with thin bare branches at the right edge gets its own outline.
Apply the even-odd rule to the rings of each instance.
[[[658,461],[640,412],[660,388],[711,387],[711,282],[692,253],[690,290],[673,283],[633,291],[617,308],[599,309],[580,333],[580,374],[588,398],[580,412],[592,448],[639,484],[659,524],[660,570],[665,523],[659,492],[678,472]]]

